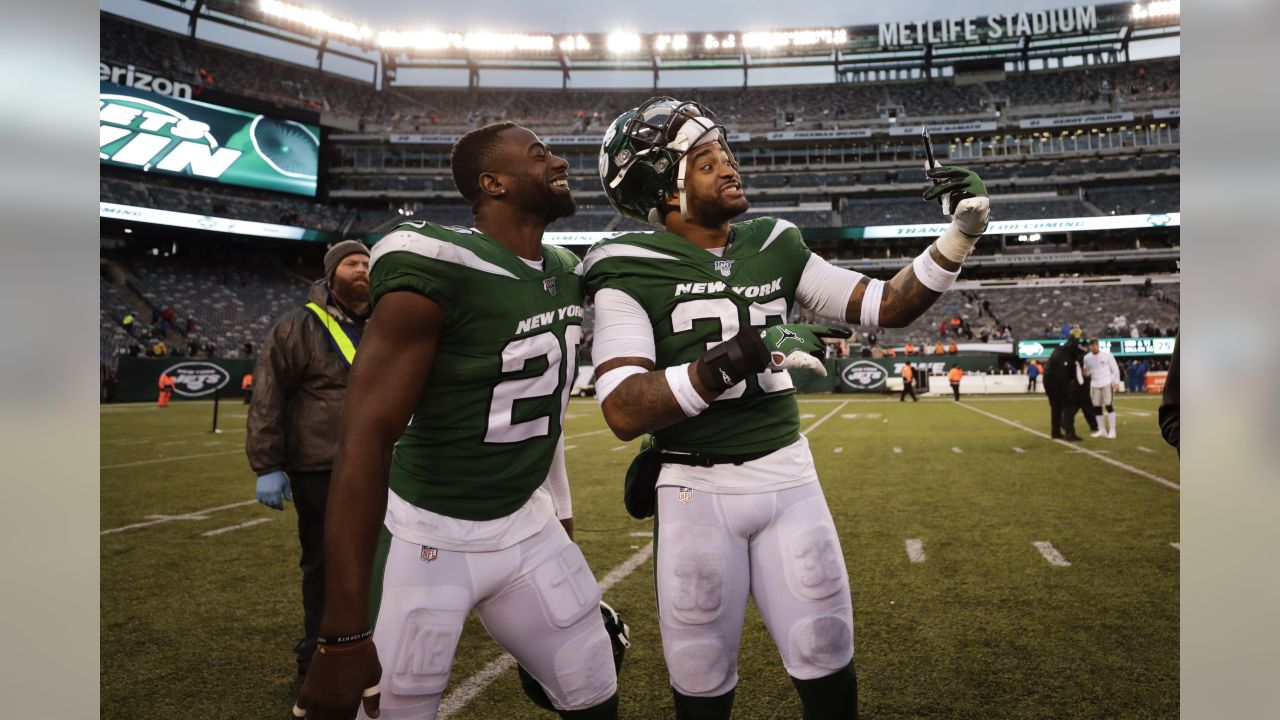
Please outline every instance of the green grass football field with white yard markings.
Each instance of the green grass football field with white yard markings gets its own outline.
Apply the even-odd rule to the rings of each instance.
[[[1178,456],[1157,398],[1116,405],[1119,439],[1066,446],[1047,437],[1043,398],[804,396],[852,587],[864,720],[1178,716]],[[207,402],[102,409],[102,717],[280,719],[297,692],[296,515],[253,500],[244,407],[223,405],[221,434],[210,415]],[[576,539],[604,579],[649,544],[621,502],[637,443],[579,400],[567,438]],[[675,716],[652,569],[605,592],[632,629],[628,719]],[[472,618],[440,717],[552,717],[513,670],[461,702],[500,656]],[[800,716],[754,609],[739,662],[735,717]]]

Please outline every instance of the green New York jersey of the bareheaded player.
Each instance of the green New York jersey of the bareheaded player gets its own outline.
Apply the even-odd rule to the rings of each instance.
[[[531,268],[480,231],[406,223],[371,256],[372,301],[412,291],[444,310],[390,488],[463,520],[520,509],[543,484],[562,432],[582,340],[579,259],[543,247]]]

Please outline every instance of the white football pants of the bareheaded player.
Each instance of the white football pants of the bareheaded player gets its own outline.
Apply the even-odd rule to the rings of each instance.
[[[554,518],[494,552],[424,548],[392,538],[374,643],[381,717],[433,720],[467,614],[543,684],[552,705],[580,710],[617,692],[600,587]],[[366,717],[364,710],[358,715]]]

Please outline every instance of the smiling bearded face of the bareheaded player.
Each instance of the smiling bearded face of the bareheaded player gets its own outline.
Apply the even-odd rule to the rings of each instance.
[[[553,154],[532,131],[520,126],[503,131],[499,158],[488,172],[502,181],[516,208],[544,223],[577,211],[568,188],[568,160]]]

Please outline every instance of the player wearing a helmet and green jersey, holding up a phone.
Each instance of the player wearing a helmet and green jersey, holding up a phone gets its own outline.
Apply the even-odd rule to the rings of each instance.
[[[655,506],[658,618],[680,719],[730,716],[749,596],[804,717],[856,717],[849,577],[781,372],[826,374],[814,355],[849,331],[785,323],[800,304],[905,327],[947,290],[986,229],[988,199],[969,170],[929,177],[925,199],[946,196],[952,223],[882,282],[812,254],[786,220],[731,223],[749,202],[723,128],[696,102],[655,97],[605,131],[609,201],[659,229],[607,238],[584,260],[595,387],[618,437],[653,433],[628,473],[627,507]]]

